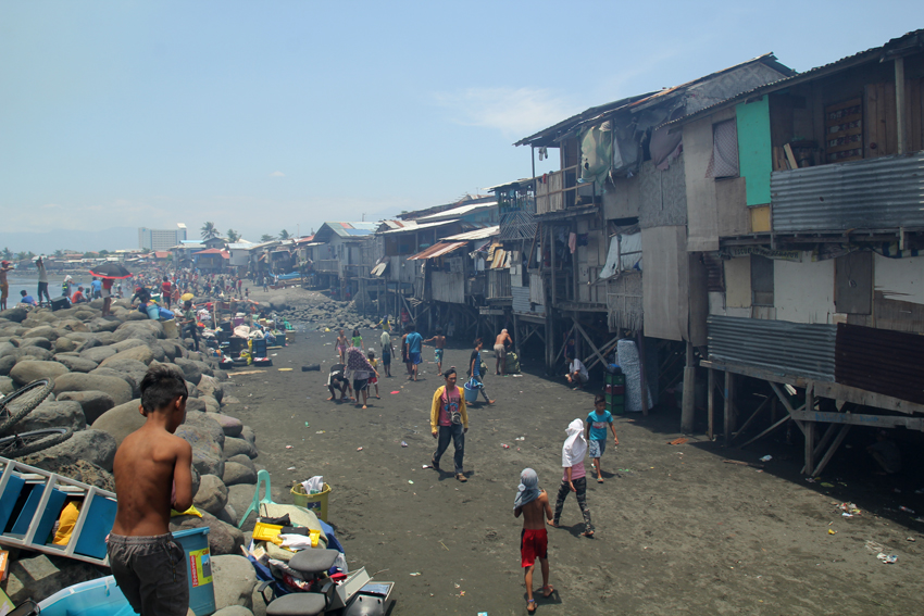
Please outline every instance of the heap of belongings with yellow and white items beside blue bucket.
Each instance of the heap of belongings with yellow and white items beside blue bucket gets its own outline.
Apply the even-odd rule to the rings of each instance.
[[[317,579],[304,579],[288,566],[302,550],[337,550],[339,556],[327,571],[329,579],[346,579],[349,569],[344,548],[334,537],[334,529],[317,519],[310,510],[298,505],[261,503],[260,517],[253,528],[253,539],[244,555],[257,569],[257,577],[276,586],[276,595],[288,592],[320,592]]]

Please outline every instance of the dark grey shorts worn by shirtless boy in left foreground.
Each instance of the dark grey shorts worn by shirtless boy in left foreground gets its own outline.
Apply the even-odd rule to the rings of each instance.
[[[115,583],[135,612],[146,616],[186,616],[186,554],[172,535],[110,535],[107,551]]]

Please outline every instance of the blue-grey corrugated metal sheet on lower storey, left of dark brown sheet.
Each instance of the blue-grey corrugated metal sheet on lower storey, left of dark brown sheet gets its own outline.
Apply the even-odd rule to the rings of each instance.
[[[834,380],[834,325],[710,316],[709,359],[777,374]]]

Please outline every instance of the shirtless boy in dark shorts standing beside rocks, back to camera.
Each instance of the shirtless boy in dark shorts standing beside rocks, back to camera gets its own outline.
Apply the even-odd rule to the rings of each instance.
[[[107,551],[115,582],[139,614],[186,616],[186,556],[170,533],[170,510],[192,505],[192,448],[174,436],[186,418],[186,381],[165,365],[141,380],[145,425],[115,454],[118,508]]]

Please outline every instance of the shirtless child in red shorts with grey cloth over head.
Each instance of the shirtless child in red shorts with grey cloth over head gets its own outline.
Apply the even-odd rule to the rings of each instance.
[[[536,600],[533,599],[533,566],[536,558],[542,566],[542,596],[548,598],[555,589],[549,583],[549,538],[542,517],[552,519],[552,507],[549,506],[549,495],[539,490],[539,476],[532,468],[524,468],[520,474],[520,487],[513,501],[513,517],[523,514],[523,530],[520,533],[520,561],[524,568],[526,580],[526,611],[536,612]]]

